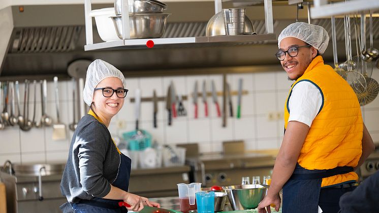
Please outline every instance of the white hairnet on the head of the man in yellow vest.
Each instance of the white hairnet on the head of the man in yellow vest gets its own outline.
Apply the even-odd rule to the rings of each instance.
[[[283,29],[278,38],[279,48],[281,40],[287,37],[294,37],[308,43],[318,49],[320,54],[325,52],[329,43],[329,35],[324,27],[305,22],[292,23]]]

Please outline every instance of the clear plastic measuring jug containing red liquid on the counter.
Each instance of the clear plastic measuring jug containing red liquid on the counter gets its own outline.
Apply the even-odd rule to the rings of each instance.
[[[180,211],[187,213],[189,210],[197,209],[195,193],[200,192],[201,183],[177,184],[179,193]]]

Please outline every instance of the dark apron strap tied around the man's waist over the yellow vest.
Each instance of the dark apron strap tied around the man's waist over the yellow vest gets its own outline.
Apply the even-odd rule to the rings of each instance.
[[[322,178],[331,177],[337,174],[346,174],[346,173],[352,172],[354,171],[354,168],[351,166],[338,166],[333,169],[308,170],[308,171],[312,171],[312,173],[293,173],[290,179],[293,179],[293,180],[322,179]]]

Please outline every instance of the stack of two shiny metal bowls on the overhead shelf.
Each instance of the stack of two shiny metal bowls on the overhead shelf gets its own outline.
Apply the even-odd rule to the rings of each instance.
[[[117,36],[122,39],[121,1],[115,0],[115,16],[111,16]],[[161,38],[165,33],[169,13],[165,3],[156,0],[128,0],[131,39]]]

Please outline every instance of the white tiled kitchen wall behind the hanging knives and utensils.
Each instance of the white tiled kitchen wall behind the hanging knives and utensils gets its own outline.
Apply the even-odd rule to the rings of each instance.
[[[379,80],[379,70],[374,70],[372,77]],[[163,144],[179,144],[198,142],[201,153],[221,151],[222,141],[244,140],[246,149],[279,148],[283,135],[282,112],[291,81],[287,80],[285,72],[229,74],[227,81],[232,91],[238,89],[238,79],[243,78],[243,90],[247,94],[242,97],[241,118],[227,117],[227,127],[222,127],[222,118],[217,117],[215,105],[208,97],[209,117],[204,115],[204,104],[201,97],[198,99],[199,117],[194,118],[194,105],[191,94],[195,81],[198,81],[199,92],[202,82],[206,80],[207,90],[211,92],[211,81],[214,80],[217,91],[222,91],[222,75],[188,75],[174,77],[127,78],[129,93],[121,111],[112,119],[109,130],[112,136],[121,137],[122,133],[135,129],[134,97],[136,88],[141,88],[142,98],[152,97],[153,89],[158,97],[164,97],[171,81],[175,83],[177,94],[189,97],[183,101],[187,116],[173,118],[172,125],[167,124],[167,110],[164,101],[159,102],[157,113],[157,128],[153,128],[153,104],[142,102],[140,115],[140,129],[151,133],[153,140]],[[31,84],[33,85],[33,84]],[[28,132],[19,127],[7,127],[0,130],[0,164],[9,159],[15,163],[30,162],[64,162],[73,132],[68,124],[73,122],[72,82],[59,82],[60,120],[66,124],[67,140],[53,141],[52,127],[41,129],[33,128]],[[20,84],[21,100],[23,100],[24,85]],[[30,97],[33,97],[33,86],[30,88]],[[37,114],[41,117],[40,89],[37,88]],[[48,82],[47,114],[56,120],[53,83]],[[236,114],[237,96],[232,97],[234,114]],[[222,108],[222,97],[218,97]],[[33,112],[33,102],[29,104],[30,113]],[[21,109],[23,103],[21,102]],[[3,110],[3,105],[0,107]],[[374,141],[379,141],[379,98],[362,107],[365,124]],[[30,114],[29,119],[31,119]]]

